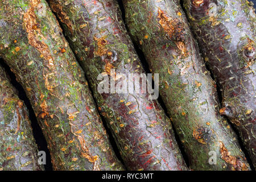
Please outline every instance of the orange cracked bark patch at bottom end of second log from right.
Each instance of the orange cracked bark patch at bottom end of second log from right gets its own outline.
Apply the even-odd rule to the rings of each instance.
[[[241,160],[237,159],[236,157],[230,155],[228,149],[224,146],[224,143],[220,142],[220,153],[221,159],[225,160],[226,163],[232,164],[233,168],[237,171],[248,171],[248,167],[245,163]]]

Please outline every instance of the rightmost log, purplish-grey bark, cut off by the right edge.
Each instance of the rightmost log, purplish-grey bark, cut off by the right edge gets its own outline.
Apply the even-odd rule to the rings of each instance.
[[[193,32],[222,91],[221,114],[240,131],[256,167],[255,10],[245,0],[185,0]]]

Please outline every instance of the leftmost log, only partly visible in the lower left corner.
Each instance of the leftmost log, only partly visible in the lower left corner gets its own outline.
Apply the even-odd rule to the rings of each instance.
[[[0,67],[0,171],[41,171],[28,111]]]

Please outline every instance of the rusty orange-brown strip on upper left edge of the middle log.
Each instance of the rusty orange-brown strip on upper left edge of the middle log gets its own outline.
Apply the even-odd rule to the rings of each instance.
[[[73,24],[71,20],[69,20],[67,13],[63,11],[63,7],[57,2],[52,3],[51,1],[49,2],[49,5],[51,6],[51,9],[58,15],[60,21],[64,23],[68,27],[71,34],[73,34]]]

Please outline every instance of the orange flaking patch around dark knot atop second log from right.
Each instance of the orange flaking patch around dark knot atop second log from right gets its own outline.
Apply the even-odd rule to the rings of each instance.
[[[167,33],[171,40],[174,40],[177,48],[180,49],[182,54],[186,56],[187,49],[185,47],[184,42],[181,41],[184,28],[180,26],[181,23],[179,22],[179,20],[168,17],[160,9],[158,9],[158,18],[160,19],[158,23],[162,26],[163,30]]]

